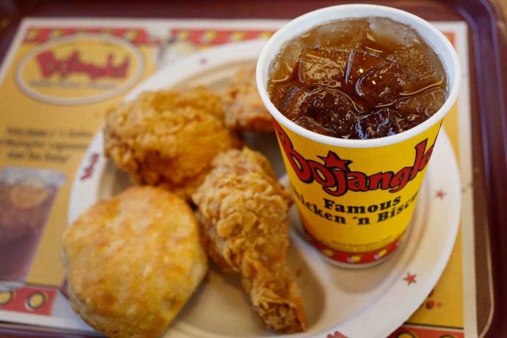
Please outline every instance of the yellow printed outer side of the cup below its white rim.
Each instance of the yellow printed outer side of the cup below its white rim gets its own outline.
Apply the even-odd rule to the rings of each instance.
[[[365,148],[314,142],[277,121],[274,126],[313,247],[345,266],[374,264],[399,247],[440,123],[413,138]]]

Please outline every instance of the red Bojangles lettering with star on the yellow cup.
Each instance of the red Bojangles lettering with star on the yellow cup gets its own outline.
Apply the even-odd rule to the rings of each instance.
[[[407,166],[398,172],[380,172],[367,175],[363,172],[350,171],[350,160],[341,159],[335,152],[330,151],[327,156],[317,156],[323,163],[307,160],[298,153],[285,131],[275,121],[275,130],[283,152],[298,176],[305,183],[317,182],[322,190],[332,196],[341,196],[350,191],[389,190],[397,192],[402,190],[407,183],[416,178],[417,174],[424,170],[428,164],[433,144],[426,150],[428,140],[415,146],[415,159],[412,166]]]

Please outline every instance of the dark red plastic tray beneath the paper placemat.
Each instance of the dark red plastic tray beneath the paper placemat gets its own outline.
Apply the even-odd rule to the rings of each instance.
[[[326,1],[15,1],[0,4],[0,60],[23,17],[290,19],[317,8],[369,3],[400,8],[429,21],[466,21],[469,30],[477,323],[479,336],[507,336],[507,32],[487,0]],[[466,250],[466,248],[463,248]],[[485,262],[491,260],[491,264]],[[490,295],[493,295],[492,297]],[[87,337],[0,323],[1,337]],[[91,336],[91,335],[90,335]]]

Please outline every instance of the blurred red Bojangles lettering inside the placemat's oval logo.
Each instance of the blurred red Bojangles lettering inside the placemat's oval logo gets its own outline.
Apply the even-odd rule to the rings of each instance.
[[[47,78],[59,74],[64,78],[69,74],[88,74],[93,80],[99,78],[124,78],[127,74],[129,57],[125,56],[123,63],[114,65],[113,54],[108,54],[105,65],[96,65],[81,60],[79,51],[74,51],[64,59],[58,60],[52,51],[45,51],[37,55],[42,76]]]

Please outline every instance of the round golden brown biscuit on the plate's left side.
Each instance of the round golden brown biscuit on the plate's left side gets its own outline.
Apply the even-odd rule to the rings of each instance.
[[[208,268],[190,207],[149,186],[98,202],[63,244],[71,306],[115,338],[162,334]]]

